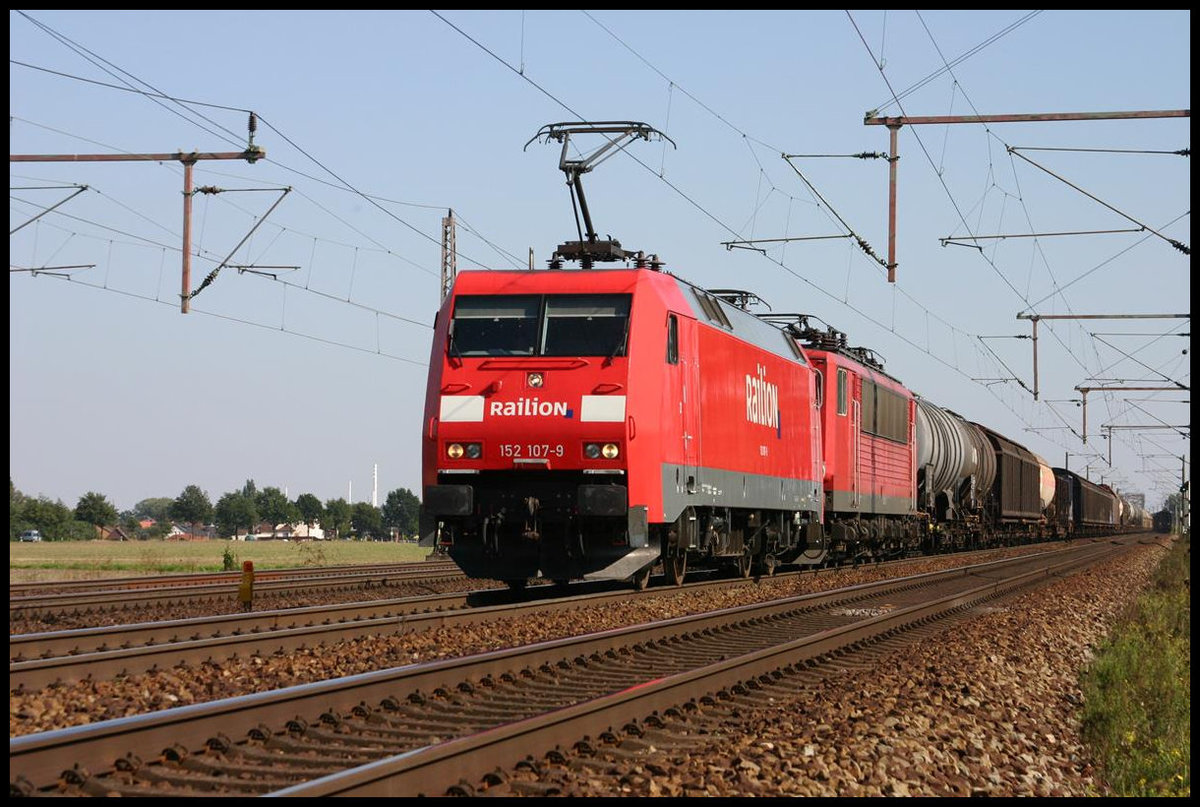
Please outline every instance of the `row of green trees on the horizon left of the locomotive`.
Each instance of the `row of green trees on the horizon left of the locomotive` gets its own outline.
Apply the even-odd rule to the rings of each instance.
[[[259,490],[253,479],[247,479],[241,490],[222,495],[216,503],[199,485],[187,485],[175,498],[144,498],[132,510],[118,512],[108,497],[95,491],[80,496],[74,508],[61,500],[26,496],[10,477],[8,539],[16,540],[25,530],[37,530],[46,540],[89,540],[101,528],[119,527],[126,537],[145,540],[167,536],[172,524],[212,526],[217,537],[233,538],[256,532],[263,522],[319,526],[326,538],[379,538],[392,530],[412,536],[416,533],[420,504],[407,488],[392,490],[383,506],[376,507],[344,498],[323,503],[313,494],[289,500],[278,488]],[[143,521],[154,524],[143,527]]]

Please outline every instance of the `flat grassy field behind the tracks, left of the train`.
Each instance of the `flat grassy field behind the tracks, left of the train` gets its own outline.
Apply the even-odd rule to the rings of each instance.
[[[8,582],[80,580],[187,572],[221,572],[226,554],[233,568],[256,569],[354,563],[404,563],[430,554],[413,543],[358,540],[70,540],[10,543]]]

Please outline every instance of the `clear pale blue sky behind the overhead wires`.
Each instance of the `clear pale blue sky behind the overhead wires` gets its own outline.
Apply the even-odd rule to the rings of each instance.
[[[1069,399],[1189,387],[1190,321],[1043,321],[1038,401],[1012,336],[1019,312],[1190,313],[1171,245],[1192,245],[1190,163],[1169,154],[1190,118],[900,128],[895,285],[847,238],[887,259],[887,162],[782,155],[886,153],[869,109],[1188,109],[1190,30],[1189,11],[10,11],[12,154],[240,151],[247,110],[266,151],[196,166],[228,192],[194,197],[192,288],[233,265],[186,315],[179,162],[10,163],[10,476],[119,509],[246,479],[370,501],[376,465],[380,503],[419,494],[442,217],[460,271],[542,268],[575,219],[558,144],[527,142],[637,120],[677,148],[584,177],[601,235],[814,313],[1157,508],[1190,440],[1112,430],[1109,467],[1100,426],[1189,424],[1189,393],[1090,394],[1086,446]],[[722,245],[780,238],[809,240]]]

